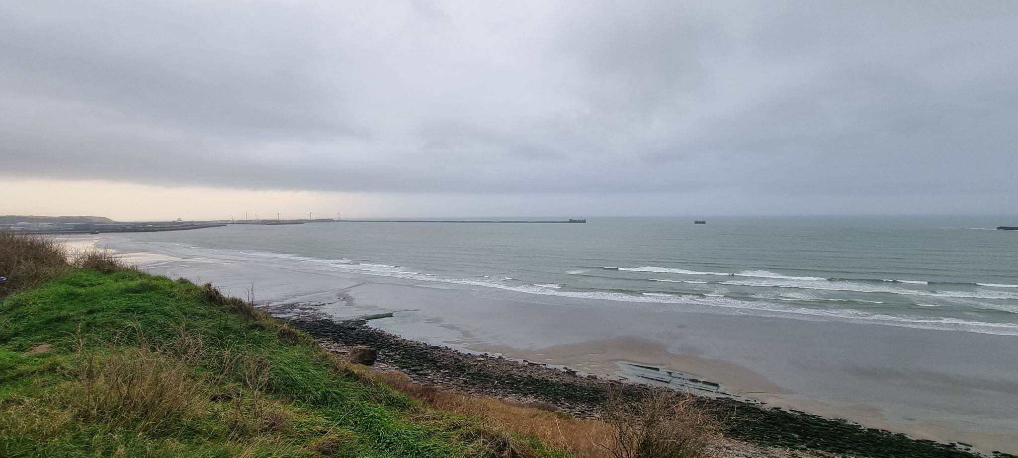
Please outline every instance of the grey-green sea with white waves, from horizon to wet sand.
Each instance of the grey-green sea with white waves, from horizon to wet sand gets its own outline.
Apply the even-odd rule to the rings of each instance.
[[[116,236],[155,250],[228,251],[539,303],[1018,335],[1018,231],[995,229],[1018,217],[693,220],[338,222]]]

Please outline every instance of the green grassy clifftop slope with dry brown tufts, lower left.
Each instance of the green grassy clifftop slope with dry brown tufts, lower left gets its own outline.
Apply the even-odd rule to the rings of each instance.
[[[0,302],[3,457],[560,457],[211,287],[74,269]]]

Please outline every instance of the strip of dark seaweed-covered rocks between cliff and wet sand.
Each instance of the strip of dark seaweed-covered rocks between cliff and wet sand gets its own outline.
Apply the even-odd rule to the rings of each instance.
[[[339,322],[314,313],[282,320],[333,350],[343,351],[353,345],[373,346],[378,349],[378,365],[401,370],[417,383],[502,399],[550,403],[576,416],[598,415],[612,390],[621,390],[624,395],[636,398],[647,390],[660,389],[583,376],[568,367],[468,354],[415,342],[371,328],[365,320]],[[965,444],[915,440],[904,434],[866,428],[847,420],[827,419],[735,399],[706,396],[698,399],[725,420],[727,437],[760,446],[871,458],[982,456],[971,452]],[[999,452],[995,452],[994,457],[1018,458]]]

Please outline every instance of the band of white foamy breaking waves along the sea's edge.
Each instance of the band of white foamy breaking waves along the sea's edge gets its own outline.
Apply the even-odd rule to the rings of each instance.
[[[234,251],[236,252],[236,251]],[[811,276],[784,275],[766,270],[744,270],[736,273],[695,271],[679,268],[664,268],[655,266],[603,268],[608,271],[658,273],[665,278],[645,278],[643,281],[661,282],[665,284],[691,284],[699,288],[714,286],[714,290],[701,292],[643,292],[636,289],[614,289],[601,291],[574,291],[567,282],[530,283],[514,280],[511,277],[485,276],[476,278],[446,278],[432,274],[423,274],[399,266],[381,263],[358,263],[348,259],[322,260],[307,256],[279,254],[271,252],[241,252],[241,254],[261,257],[272,257],[280,261],[297,263],[314,263],[325,265],[326,269],[350,272],[364,275],[398,277],[403,279],[427,281],[430,285],[461,285],[459,287],[485,288],[483,291],[503,290],[515,293],[557,296],[564,298],[584,299],[592,301],[612,301],[625,303],[625,306],[653,307],[660,310],[715,310],[727,313],[751,313],[778,317],[799,317],[807,320],[850,321],[857,323],[875,323],[909,328],[968,331],[986,334],[1016,335],[1018,325],[1011,323],[987,323],[962,318],[923,317],[908,312],[908,308],[894,313],[885,312],[893,308],[886,306],[883,297],[827,297],[837,292],[895,294],[902,297],[930,297],[932,300],[915,303],[914,299],[900,299],[905,305],[922,308],[912,308],[918,312],[923,308],[941,306],[965,306],[968,309],[984,309],[1018,313],[1018,305],[1010,303],[991,303],[977,299],[1014,300],[1018,285],[1000,283],[950,283],[926,282],[918,280],[890,279],[840,279]],[[587,273],[587,270],[569,270],[567,275]],[[698,276],[700,279],[668,278],[676,276]],[[714,278],[712,278],[714,277]],[[932,289],[937,285],[960,285],[971,288],[964,291],[957,286],[953,289]],[[761,290],[729,291],[731,286],[745,288],[760,288]],[[1010,291],[1008,289],[1011,289]],[[814,291],[810,293],[810,291]],[[824,292],[832,293],[825,294]],[[936,303],[936,302],[945,303]],[[830,305],[825,306],[825,303]],[[802,306],[799,306],[802,304]],[[866,304],[874,306],[866,310]],[[852,307],[855,308],[852,308]],[[863,309],[858,309],[863,308]],[[992,321],[992,320],[991,320]]]

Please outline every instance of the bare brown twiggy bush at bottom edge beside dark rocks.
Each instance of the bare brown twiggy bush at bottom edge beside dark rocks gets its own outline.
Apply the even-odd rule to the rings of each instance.
[[[599,443],[615,458],[696,458],[720,435],[717,416],[689,394],[654,390],[640,401],[613,392],[605,406],[614,441]]]

